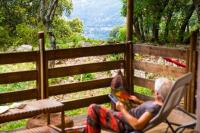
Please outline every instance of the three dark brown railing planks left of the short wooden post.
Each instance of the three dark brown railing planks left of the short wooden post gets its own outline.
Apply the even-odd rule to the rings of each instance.
[[[39,52],[21,52],[0,54],[0,65],[35,62],[36,70],[9,72],[0,74],[0,84],[10,84],[25,81],[36,81],[38,84]],[[39,99],[40,92],[37,88],[0,93],[0,104],[17,102],[30,99]]]

